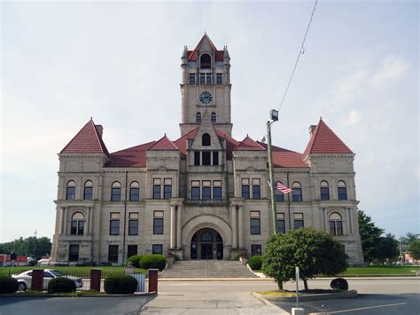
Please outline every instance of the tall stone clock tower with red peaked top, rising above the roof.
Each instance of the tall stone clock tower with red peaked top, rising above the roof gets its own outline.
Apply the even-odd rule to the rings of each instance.
[[[218,51],[205,34],[193,51],[184,47],[181,69],[181,136],[200,124],[205,111],[215,128],[231,136],[228,47]]]

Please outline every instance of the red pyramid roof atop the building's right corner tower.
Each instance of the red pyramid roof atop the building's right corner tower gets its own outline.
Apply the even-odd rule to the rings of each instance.
[[[308,154],[353,154],[353,152],[320,118],[303,155]]]

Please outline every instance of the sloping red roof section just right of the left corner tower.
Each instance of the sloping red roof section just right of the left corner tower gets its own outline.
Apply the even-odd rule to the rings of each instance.
[[[110,154],[110,162],[107,168],[145,168],[146,151],[153,146],[156,141],[145,143],[140,146],[129,147],[121,151]]]

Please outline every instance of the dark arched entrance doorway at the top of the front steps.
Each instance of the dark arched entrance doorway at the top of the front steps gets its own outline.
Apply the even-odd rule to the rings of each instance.
[[[198,230],[191,238],[191,259],[223,259],[223,240],[214,229]]]

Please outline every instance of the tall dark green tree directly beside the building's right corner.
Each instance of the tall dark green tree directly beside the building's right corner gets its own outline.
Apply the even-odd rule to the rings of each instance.
[[[372,219],[362,210],[357,211],[357,219],[359,221],[364,261],[369,263],[379,257],[377,245],[384,230],[375,226]]]

